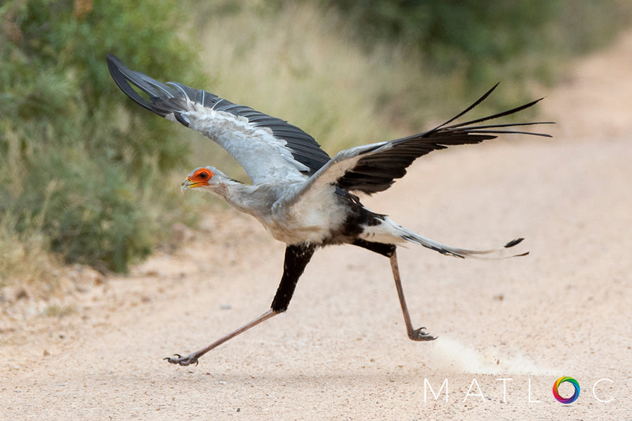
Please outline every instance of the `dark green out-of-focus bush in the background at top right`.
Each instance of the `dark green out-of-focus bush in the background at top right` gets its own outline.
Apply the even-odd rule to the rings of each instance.
[[[509,62],[522,63],[527,55],[559,58],[603,46],[632,17],[623,0],[323,2],[340,9],[367,46],[374,39],[404,42],[433,70],[460,72],[469,84],[489,83],[488,75],[505,74]],[[547,76],[547,64],[539,60],[535,76]]]

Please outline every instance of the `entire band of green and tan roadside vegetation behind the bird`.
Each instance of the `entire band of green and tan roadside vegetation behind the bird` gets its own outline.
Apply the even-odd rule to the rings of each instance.
[[[212,142],[128,100],[106,53],[287,119],[334,154],[423,131],[497,81],[494,111],[543,95],[534,86],[631,15],[622,0],[5,1],[0,279],[45,276],[59,258],[125,271],[186,218],[191,168],[245,178]]]

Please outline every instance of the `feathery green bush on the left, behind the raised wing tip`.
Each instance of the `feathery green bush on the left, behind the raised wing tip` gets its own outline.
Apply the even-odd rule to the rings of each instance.
[[[187,148],[170,140],[175,125],[121,94],[105,55],[199,80],[183,10],[176,0],[0,6],[0,218],[18,238],[35,228],[67,262],[125,271],[177,216],[177,185],[164,184]]]

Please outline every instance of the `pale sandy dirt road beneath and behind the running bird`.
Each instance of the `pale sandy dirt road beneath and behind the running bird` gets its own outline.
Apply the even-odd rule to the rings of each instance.
[[[436,341],[407,339],[388,260],[345,246],[316,253],[287,314],[199,366],[162,361],[277,288],[284,245],[209,211],[178,253],[78,286],[67,316],[4,308],[0,418],[632,420],[632,33],[546,95],[555,139],[433,153],[365,201],[454,246],[527,238],[529,256],[503,261],[400,249],[414,324]],[[581,387],[568,405],[562,375]]]

